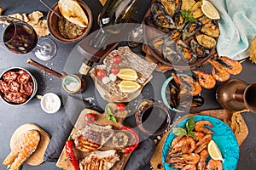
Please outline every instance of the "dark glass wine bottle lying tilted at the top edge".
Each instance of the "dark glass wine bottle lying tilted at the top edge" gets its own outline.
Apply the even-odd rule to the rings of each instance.
[[[138,3],[139,0],[107,0],[102,13],[98,16],[100,30],[97,32],[96,37],[90,41],[90,46],[96,49],[105,48],[108,37],[123,30],[124,24],[128,22]],[[79,53],[88,54],[84,53],[81,47],[79,48]],[[96,56],[84,59],[79,72],[86,75],[94,62],[98,61],[96,61]]]

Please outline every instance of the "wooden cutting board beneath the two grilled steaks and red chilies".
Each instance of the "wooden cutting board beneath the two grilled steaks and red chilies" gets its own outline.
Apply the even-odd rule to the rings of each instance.
[[[116,117],[117,122],[114,123],[114,122],[106,120],[106,118],[105,118],[106,113],[100,114],[96,111],[84,109],[81,112],[79,119],[76,122],[76,124],[73,128],[73,131],[71,132],[70,135],[72,135],[73,133],[77,132],[77,130],[79,130],[85,126],[86,123],[84,122],[84,115],[87,113],[96,114],[96,116],[97,116],[96,124],[98,124],[98,125],[102,125],[102,126],[111,125],[114,130],[119,130],[121,127],[124,126],[122,124],[124,118]],[[129,136],[130,141],[131,141],[130,144],[133,144],[135,142],[133,135],[131,133],[128,133],[127,131],[125,131],[124,133],[126,133]],[[112,142],[112,139],[109,139],[108,143],[106,144],[107,146],[103,146],[100,150],[113,149],[113,148],[111,148],[111,146],[109,146],[109,145],[111,145],[110,144],[111,142]],[[78,160],[81,160],[85,156],[88,156],[90,154],[89,152],[83,152],[83,151],[77,150],[77,149],[75,149],[75,147],[73,147],[73,150],[74,150],[75,156],[77,157]],[[120,161],[117,161],[111,169],[114,169],[114,170],[124,169],[126,162],[128,161],[129,157],[131,156],[131,153],[129,153],[129,154],[119,153],[119,156],[120,156],[120,158],[119,158]],[[73,165],[67,159],[67,153],[66,153],[65,147],[63,148],[63,150],[61,152],[61,156],[59,157],[59,160],[56,162],[56,166],[60,167],[61,169],[64,169],[64,170],[74,170]]]

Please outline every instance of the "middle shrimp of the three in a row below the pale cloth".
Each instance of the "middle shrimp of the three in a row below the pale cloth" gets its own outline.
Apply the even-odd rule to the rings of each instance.
[[[221,65],[218,63],[218,61],[214,60],[208,60],[209,63],[212,64],[212,76],[217,80],[218,82],[225,82],[230,78],[230,73],[226,70],[226,67],[224,65]],[[215,69],[218,71],[216,73]]]

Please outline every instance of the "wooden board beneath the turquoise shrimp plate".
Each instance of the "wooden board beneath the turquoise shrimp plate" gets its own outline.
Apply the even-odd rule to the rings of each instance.
[[[233,113],[227,110],[211,110],[211,111],[201,111],[200,113],[197,114],[188,114],[186,116],[183,116],[182,118],[180,118],[177,122],[174,122],[172,124],[172,127],[174,125],[176,125],[178,122],[182,121],[183,119],[185,119],[188,116],[195,116],[195,115],[207,115],[207,116],[214,116],[222,121],[231,121],[231,118],[233,116]],[[236,115],[239,117],[239,120],[241,121],[241,129],[240,129],[240,133],[236,133],[236,139],[237,142],[239,144],[239,146],[242,144],[242,142],[247,138],[248,135],[248,128],[247,128],[247,124],[246,122],[243,120],[242,116]],[[152,156],[151,160],[150,160],[150,164],[151,166],[154,168],[154,170],[164,170],[164,167],[162,166],[162,147],[163,144],[165,143],[166,137],[168,135],[169,132],[167,132],[162,139],[160,139],[160,142],[157,144],[155,151],[154,151],[154,155]]]

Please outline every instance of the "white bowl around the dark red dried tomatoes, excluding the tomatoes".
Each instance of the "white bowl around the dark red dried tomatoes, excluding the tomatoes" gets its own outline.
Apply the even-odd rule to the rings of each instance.
[[[12,67],[12,68],[9,68],[7,69],[6,71],[3,71],[3,73],[1,74],[0,76],[0,80],[3,80],[3,75],[8,72],[8,71],[20,71],[20,70],[23,70],[23,71],[26,71],[26,73],[28,73],[30,75],[30,77],[32,77],[32,82],[33,82],[33,93],[32,95],[26,99],[26,101],[24,103],[21,103],[21,104],[15,104],[15,103],[10,103],[9,101],[3,99],[3,93],[0,91],[0,98],[3,100],[3,103],[6,103],[7,105],[11,105],[11,106],[20,106],[20,105],[26,105],[27,102],[29,102],[29,100],[31,100],[35,94],[37,94],[37,91],[38,91],[38,82],[36,80],[35,77],[32,76],[31,72],[27,71],[26,69],[24,68],[21,68],[21,67]]]

